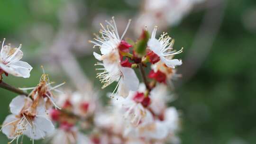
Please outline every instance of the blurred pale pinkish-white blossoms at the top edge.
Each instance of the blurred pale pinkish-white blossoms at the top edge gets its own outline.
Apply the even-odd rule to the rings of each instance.
[[[147,25],[161,28],[174,26],[187,15],[194,5],[204,0],[144,0],[143,9],[137,16],[137,32]]]

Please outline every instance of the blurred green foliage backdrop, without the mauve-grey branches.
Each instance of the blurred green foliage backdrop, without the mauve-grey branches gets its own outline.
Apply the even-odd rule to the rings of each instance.
[[[127,1],[0,0],[0,39],[5,37],[12,45],[22,43],[23,60],[34,67],[29,79],[9,76],[4,77],[4,81],[17,87],[35,86],[42,73],[40,65],[44,65],[52,80],[67,81],[67,85],[72,85],[61,68],[55,67],[55,59],[49,57],[52,53],[49,45],[61,27],[59,15],[69,14],[69,11],[60,12],[59,9],[67,3],[78,5],[76,28],[87,33],[90,39],[91,34],[98,31],[93,20],[97,15],[118,15],[127,20],[137,14],[141,1]],[[170,104],[182,112],[179,136],[183,144],[256,143],[256,0],[225,3],[223,21],[210,53],[195,75],[177,86],[178,99]],[[174,47],[185,48],[179,58],[184,58],[190,50],[204,14],[205,9],[194,9],[178,26],[167,30],[176,40]],[[82,41],[87,43],[88,39]],[[100,88],[101,83],[95,80],[93,64],[96,60],[92,57],[91,45],[84,45],[84,51],[87,51],[84,54],[79,53],[81,50],[71,51],[77,56],[83,72],[95,87]],[[198,54],[200,52],[192,57]],[[190,72],[190,69],[185,71]],[[112,89],[103,90],[102,98],[106,100],[105,92]],[[9,114],[9,102],[16,94],[0,89],[0,96],[0,122],[3,122]],[[6,136],[0,134],[0,143],[7,142]],[[29,143],[28,139],[24,141],[24,144]]]

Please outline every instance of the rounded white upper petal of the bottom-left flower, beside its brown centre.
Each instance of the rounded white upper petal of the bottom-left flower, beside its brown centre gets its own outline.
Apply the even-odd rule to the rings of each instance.
[[[20,111],[24,107],[24,105],[27,102],[32,102],[31,99],[27,98],[24,95],[19,95],[11,100],[11,103],[9,104],[10,111],[14,115],[19,115]]]

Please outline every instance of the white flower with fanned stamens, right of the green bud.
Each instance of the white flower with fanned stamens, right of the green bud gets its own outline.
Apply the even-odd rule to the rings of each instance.
[[[147,45],[150,50],[160,57],[160,60],[165,63],[168,67],[175,68],[176,65],[181,65],[182,61],[178,59],[172,59],[175,54],[180,54],[183,52],[183,48],[175,52],[172,48],[174,41],[171,41],[171,37],[166,36],[167,33],[164,33],[157,40],[155,38],[157,27],[154,28],[151,34]],[[171,42],[170,42],[171,41]]]

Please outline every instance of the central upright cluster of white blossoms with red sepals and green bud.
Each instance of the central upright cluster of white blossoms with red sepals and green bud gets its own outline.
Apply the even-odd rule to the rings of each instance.
[[[106,22],[107,26],[101,24],[101,36],[96,35],[91,43],[101,51],[101,54],[93,54],[102,61],[96,65],[101,66],[97,70],[103,71],[97,74],[103,88],[115,81],[117,86],[110,94],[110,108],[94,118],[95,125],[101,129],[95,144],[179,143],[176,137],[179,114],[166,103],[172,98],[168,85],[179,76],[175,67],[182,64],[173,57],[183,49],[175,51],[174,40],[167,33],[156,39],[157,27],[151,36],[143,30],[139,39],[133,42],[123,40],[130,21],[121,37],[114,18]],[[144,70],[146,67],[151,68],[148,74]],[[139,84],[136,69],[142,73],[144,83]]]

